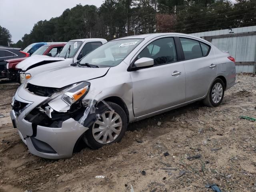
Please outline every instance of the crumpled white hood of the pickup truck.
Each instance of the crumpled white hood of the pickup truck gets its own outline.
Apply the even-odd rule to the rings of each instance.
[[[16,65],[16,68],[22,69],[23,71],[26,71],[30,66],[34,64],[38,64],[40,62],[55,62],[55,61],[62,61],[65,60],[64,58],[59,58],[59,57],[49,57],[46,55],[32,55],[31,57],[23,60],[20,62],[18,65]]]

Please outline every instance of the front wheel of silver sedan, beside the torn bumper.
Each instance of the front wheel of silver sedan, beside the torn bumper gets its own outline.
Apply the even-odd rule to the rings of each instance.
[[[89,129],[85,132],[85,134],[83,136],[84,142],[87,144],[88,147],[90,147],[92,149],[98,149],[104,145],[120,142],[126,132],[127,117],[126,117],[126,113],[124,112],[124,110],[118,104],[115,104],[113,102],[107,102],[107,104],[114,110],[114,112],[111,111],[110,109],[107,111],[105,110],[105,112],[101,115],[101,118],[98,121],[94,122],[89,127]],[[106,109],[105,104],[100,103],[100,105],[98,106],[98,110],[104,111],[104,109]],[[105,118],[103,116],[105,116]],[[108,124],[108,127],[105,126],[105,124],[104,125],[97,124],[97,122],[102,124],[102,122],[104,122],[104,119],[105,119],[105,122],[108,122],[108,118],[110,118],[110,116],[113,117],[112,120],[114,120],[115,118],[118,118],[118,116],[120,118],[118,118],[115,122]],[[114,126],[120,125],[120,126],[115,127],[115,132],[114,132],[113,131],[114,128],[112,127],[112,125],[114,125]],[[122,127],[121,127],[121,125],[122,125]],[[104,131],[103,128],[106,131]],[[96,132],[97,130],[100,130],[100,129],[101,129],[101,131]],[[103,134],[102,134],[102,132],[103,132]],[[108,132],[108,133],[106,133],[106,132]],[[118,134],[116,132],[118,132]],[[107,134],[106,142],[104,142],[104,135],[106,135],[104,133]],[[100,135],[100,134],[102,134],[102,135]],[[112,135],[112,138],[110,138],[110,134]],[[114,140],[112,140],[112,139],[114,139]]]

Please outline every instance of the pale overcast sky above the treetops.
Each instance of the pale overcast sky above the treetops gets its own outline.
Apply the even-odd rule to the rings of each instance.
[[[7,28],[16,43],[40,20],[57,17],[77,4],[100,7],[103,0],[0,0],[0,26]]]

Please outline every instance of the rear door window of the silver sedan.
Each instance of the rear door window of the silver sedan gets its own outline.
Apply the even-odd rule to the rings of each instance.
[[[185,60],[200,58],[203,56],[200,43],[188,38],[180,38]]]

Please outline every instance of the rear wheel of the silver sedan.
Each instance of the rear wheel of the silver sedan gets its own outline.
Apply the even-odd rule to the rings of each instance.
[[[222,96],[220,98],[220,95],[219,95],[219,97],[218,98],[214,98],[215,99],[214,100],[212,98],[212,95],[214,94],[214,92],[220,93],[218,91],[219,85],[221,85],[221,87],[222,87]],[[217,87],[217,89],[216,89],[216,87]],[[204,100],[203,100],[204,105],[206,105],[208,107],[219,106],[221,104],[222,100],[223,100],[223,97],[224,97],[224,87],[225,86],[224,86],[223,81],[220,78],[216,78],[214,80],[214,82],[212,83],[212,86],[210,87],[210,90],[208,91],[206,98],[204,98]]]

